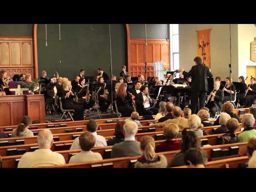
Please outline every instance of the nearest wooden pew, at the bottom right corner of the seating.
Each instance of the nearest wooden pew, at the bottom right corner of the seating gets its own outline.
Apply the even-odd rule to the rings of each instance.
[[[237,168],[238,164],[245,164],[249,160],[248,156],[222,159],[206,162],[205,168]],[[172,168],[188,168],[186,165]]]

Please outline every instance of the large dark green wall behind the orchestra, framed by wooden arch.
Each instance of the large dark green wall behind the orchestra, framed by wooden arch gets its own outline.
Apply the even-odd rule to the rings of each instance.
[[[90,27],[94,30],[91,30]],[[102,68],[110,76],[110,46],[108,24],[38,24],[38,75],[46,70],[52,76],[73,79],[81,68],[85,76],[95,76]],[[126,65],[126,29],[124,24],[111,24],[112,70],[119,76],[121,66]],[[61,60],[61,63],[60,63]]]

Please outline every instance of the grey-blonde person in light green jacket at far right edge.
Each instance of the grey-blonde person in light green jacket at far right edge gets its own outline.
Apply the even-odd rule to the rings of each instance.
[[[242,127],[244,130],[238,135],[239,142],[247,142],[250,138],[256,137],[256,130],[253,128],[255,119],[252,114],[246,113],[242,118]]]

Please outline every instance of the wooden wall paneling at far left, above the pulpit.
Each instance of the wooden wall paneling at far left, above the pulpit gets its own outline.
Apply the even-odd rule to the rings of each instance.
[[[32,37],[0,37],[0,70],[7,76],[30,73],[35,77]]]

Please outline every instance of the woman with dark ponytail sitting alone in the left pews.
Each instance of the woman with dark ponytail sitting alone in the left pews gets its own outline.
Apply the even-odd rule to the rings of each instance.
[[[33,132],[28,129],[32,124],[32,120],[29,116],[24,116],[17,128],[12,131],[12,137],[32,137]]]

